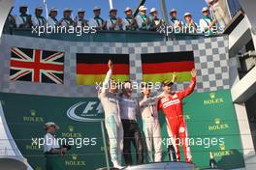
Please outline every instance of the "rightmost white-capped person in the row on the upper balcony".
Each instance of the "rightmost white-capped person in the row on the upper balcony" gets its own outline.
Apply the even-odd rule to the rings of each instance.
[[[209,10],[208,7],[204,7],[202,9],[202,13],[204,14],[203,18],[200,19],[199,24],[200,24],[200,28],[202,30],[203,33],[206,34],[206,36],[212,35],[212,34],[216,34],[217,33],[217,20],[212,19],[209,16]]]

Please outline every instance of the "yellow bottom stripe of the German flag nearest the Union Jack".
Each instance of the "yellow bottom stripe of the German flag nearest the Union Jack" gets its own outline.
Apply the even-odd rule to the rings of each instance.
[[[105,77],[106,74],[77,74],[77,82],[78,85],[97,85],[102,84]],[[115,81],[127,81],[129,78],[129,75],[112,75],[112,79]]]

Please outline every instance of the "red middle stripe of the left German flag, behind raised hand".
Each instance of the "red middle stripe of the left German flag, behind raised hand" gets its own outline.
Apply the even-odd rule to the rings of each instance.
[[[78,74],[106,74],[109,71],[106,64],[80,64],[77,65]],[[129,74],[129,65],[115,64],[112,69],[113,74]]]

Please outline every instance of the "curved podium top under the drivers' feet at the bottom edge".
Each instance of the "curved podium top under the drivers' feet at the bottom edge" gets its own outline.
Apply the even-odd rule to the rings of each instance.
[[[145,163],[140,165],[133,165],[133,166],[127,166],[124,167],[123,170],[148,170],[148,169],[157,169],[157,170],[167,170],[167,169],[173,169],[173,170],[196,170],[196,165],[194,163],[187,163],[187,162],[171,162],[171,161],[165,161],[165,162],[154,162],[154,163]],[[96,170],[108,170],[108,168],[99,168]],[[115,170],[114,168],[110,168],[110,170]]]

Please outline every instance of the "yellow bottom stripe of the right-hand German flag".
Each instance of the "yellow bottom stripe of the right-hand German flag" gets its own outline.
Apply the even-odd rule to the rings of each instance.
[[[144,74],[144,82],[162,82],[166,79],[172,80],[173,72],[168,73],[150,73],[150,74]],[[184,71],[184,72],[176,72],[176,82],[184,82],[184,81],[190,81],[191,79],[191,73],[190,71]]]

